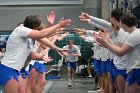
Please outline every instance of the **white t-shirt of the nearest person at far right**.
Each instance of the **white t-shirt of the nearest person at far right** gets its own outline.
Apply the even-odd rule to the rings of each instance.
[[[126,40],[126,44],[134,49],[127,54],[127,71],[133,68],[140,69],[140,30],[133,31]]]

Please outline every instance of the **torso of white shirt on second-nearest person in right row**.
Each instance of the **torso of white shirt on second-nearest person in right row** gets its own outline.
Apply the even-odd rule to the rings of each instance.
[[[121,28],[117,33],[114,33],[114,37],[112,37],[112,38],[114,39],[114,43],[116,45],[119,43],[123,44],[123,43],[125,43],[128,35],[129,34]],[[126,57],[125,55],[122,57],[114,55],[113,63],[115,64],[117,69],[126,69],[125,57]]]

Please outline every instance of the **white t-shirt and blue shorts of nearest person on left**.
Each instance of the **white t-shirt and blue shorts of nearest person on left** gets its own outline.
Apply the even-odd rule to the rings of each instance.
[[[5,85],[11,78],[18,82],[19,71],[31,52],[32,43],[28,34],[32,29],[19,25],[9,36],[5,56],[0,64],[0,85]]]

